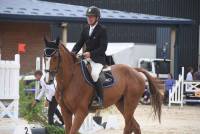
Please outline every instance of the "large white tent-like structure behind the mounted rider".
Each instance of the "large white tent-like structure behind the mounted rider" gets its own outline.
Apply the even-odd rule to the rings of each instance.
[[[75,43],[67,43],[71,51]],[[79,54],[82,50],[79,51]],[[116,64],[136,67],[140,58],[156,58],[156,45],[129,43],[108,43],[107,56],[112,56]]]

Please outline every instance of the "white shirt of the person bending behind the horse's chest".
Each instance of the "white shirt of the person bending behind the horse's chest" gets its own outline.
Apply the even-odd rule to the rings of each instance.
[[[55,95],[55,86],[54,84],[46,84],[44,81],[44,77],[41,77],[40,81],[39,81],[40,85],[41,85],[41,89],[40,89],[40,93],[38,94],[38,96],[35,98],[36,100],[41,100],[42,96],[45,94],[46,99],[48,101],[52,100],[52,97]]]

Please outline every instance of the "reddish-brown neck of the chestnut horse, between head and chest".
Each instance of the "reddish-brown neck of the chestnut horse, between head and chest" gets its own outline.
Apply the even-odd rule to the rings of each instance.
[[[69,84],[74,71],[74,61],[70,52],[65,48],[64,45],[59,46],[60,51],[60,68],[56,76],[57,82],[61,82],[62,86]]]

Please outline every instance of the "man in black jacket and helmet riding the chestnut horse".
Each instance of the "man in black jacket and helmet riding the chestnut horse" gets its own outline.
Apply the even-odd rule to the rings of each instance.
[[[99,22],[101,16],[99,8],[95,6],[89,7],[86,11],[86,16],[88,25],[83,28],[79,40],[72,49],[72,53],[77,54],[83,45],[86,45],[83,56],[91,65],[91,76],[97,93],[97,105],[102,107],[103,91],[99,74],[103,66],[106,65],[107,32],[106,28]]]

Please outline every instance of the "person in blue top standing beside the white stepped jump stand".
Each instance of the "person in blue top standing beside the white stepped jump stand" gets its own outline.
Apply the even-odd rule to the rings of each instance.
[[[175,84],[175,81],[173,79],[173,76],[171,73],[169,73],[168,78],[165,80],[165,96],[164,96],[165,103],[168,103],[169,91],[171,92],[174,84]]]

